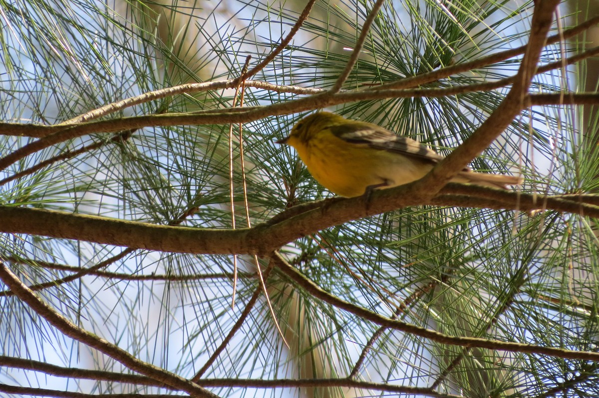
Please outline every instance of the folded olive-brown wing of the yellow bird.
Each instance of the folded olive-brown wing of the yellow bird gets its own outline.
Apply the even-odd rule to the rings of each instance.
[[[338,138],[355,144],[368,145],[370,148],[418,158],[420,160],[437,163],[443,157],[428,146],[408,137],[398,136],[370,123],[356,123],[330,127],[332,133]]]

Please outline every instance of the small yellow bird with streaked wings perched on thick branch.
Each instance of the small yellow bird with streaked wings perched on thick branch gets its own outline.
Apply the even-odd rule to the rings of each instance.
[[[418,180],[443,159],[416,140],[330,112],[303,118],[289,137],[277,143],[293,146],[308,172],[326,189],[344,197]],[[522,180],[518,176],[476,173],[466,168],[452,182],[505,189]]]

